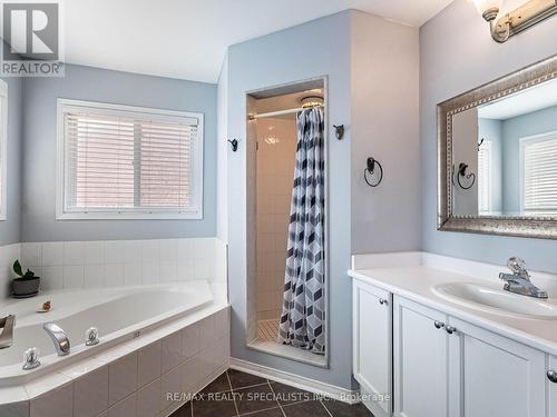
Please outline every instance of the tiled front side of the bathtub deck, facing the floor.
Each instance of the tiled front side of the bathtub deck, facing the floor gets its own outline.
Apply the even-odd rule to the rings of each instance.
[[[27,385],[0,388],[0,416],[169,416],[228,367],[228,329],[227,305],[212,304]]]

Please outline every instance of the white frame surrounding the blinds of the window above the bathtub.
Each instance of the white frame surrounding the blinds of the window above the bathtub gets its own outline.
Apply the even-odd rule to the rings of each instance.
[[[113,116],[115,112],[123,112],[127,117],[145,117],[145,115],[156,115],[157,120],[164,118],[175,119],[193,118],[197,122],[197,141],[193,152],[194,170],[193,173],[193,196],[194,202],[190,209],[179,210],[176,208],[153,209],[153,208],[130,208],[119,210],[94,209],[89,211],[68,210],[66,207],[66,177],[67,177],[67,160],[66,160],[66,138],[65,138],[65,113],[68,111],[95,111],[98,115]],[[204,148],[204,115],[198,112],[175,111],[164,109],[153,109],[146,107],[124,106],[104,103],[97,101],[57,100],[57,186],[56,186],[56,219],[57,220],[199,220],[203,219],[203,148]]]

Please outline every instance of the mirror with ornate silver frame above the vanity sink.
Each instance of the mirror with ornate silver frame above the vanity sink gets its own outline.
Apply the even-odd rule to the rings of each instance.
[[[557,238],[556,62],[438,106],[439,229]]]

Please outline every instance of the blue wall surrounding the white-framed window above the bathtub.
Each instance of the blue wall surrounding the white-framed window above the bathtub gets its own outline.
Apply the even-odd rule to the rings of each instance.
[[[22,98],[22,241],[215,236],[216,85],[69,64],[63,78],[26,79]],[[57,98],[204,113],[204,218],[56,221]]]

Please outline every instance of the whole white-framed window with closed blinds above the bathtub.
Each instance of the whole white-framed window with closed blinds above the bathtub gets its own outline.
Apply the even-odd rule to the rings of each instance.
[[[59,219],[201,219],[203,115],[58,100]]]

